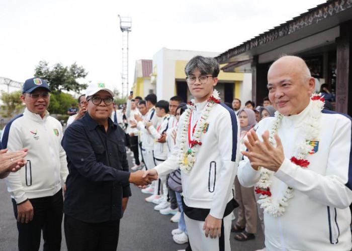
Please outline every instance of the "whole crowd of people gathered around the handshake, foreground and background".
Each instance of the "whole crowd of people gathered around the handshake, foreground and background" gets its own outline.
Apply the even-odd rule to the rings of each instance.
[[[41,232],[44,250],[60,250],[63,214],[68,250],[116,250],[130,183],[178,222],[170,234],[186,250],[229,251],[231,232],[255,238],[257,216],[262,250],[350,250],[350,117],[324,109],[299,57],[273,63],[261,106],[222,103],[219,71],[213,58],[187,63],[192,100],[130,93],[118,105],[92,83],[64,133],[47,82],[26,80],[0,143],[19,250],[38,250]]]

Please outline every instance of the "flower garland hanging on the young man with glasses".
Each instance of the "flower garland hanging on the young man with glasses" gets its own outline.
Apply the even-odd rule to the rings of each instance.
[[[220,103],[219,101],[219,92],[214,89],[213,95],[208,98],[208,102],[203,109],[202,114],[200,115],[199,120],[196,123],[196,127],[194,130],[191,129],[191,121],[190,117],[195,109],[195,107],[189,103],[187,105],[188,109],[184,112],[184,121],[183,128],[181,132],[181,145],[180,145],[180,156],[179,156],[179,164],[180,169],[185,173],[190,173],[191,169],[196,162],[196,153],[198,151],[199,146],[202,145],[201,137],[206,132],[206,120],[209,116],[209,112],[214,103]],[[190,132],[189,132],[190,131]],[[188,139],[188,134],[193,134],[193,140]]]

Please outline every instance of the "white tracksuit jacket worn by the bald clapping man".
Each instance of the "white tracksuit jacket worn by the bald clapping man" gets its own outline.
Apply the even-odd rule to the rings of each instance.
[[[351,121],[336,112],[323,110],[319,121],[320,136],[317,152],[306,157],[310,162],[303,169],[289,160],[295,155],[295,144],[302,141],[302,121],[310,119],[308,109],[300,114],[285,116],[278,135],[282,141],[285,161],[272,176],[273,199],[281,199],[287,186],[294,188],[294,197],[285,207],[284,215],[273,217],[264,213],[265,244],[272,250],[350,250],[352,202],[349,187],[352,176],[350,169]],[[259,122],[257,135],[270,130],[274,117]],[[237,172],[241,185],[251,187],[259,180],[245,157]]]

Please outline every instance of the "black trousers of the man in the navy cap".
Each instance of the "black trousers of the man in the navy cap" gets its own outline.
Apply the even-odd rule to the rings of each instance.
[[[34,217],[28,223],[17,222],[18,248],[20,251],[39,250],[41,231],[43,230],[44,251],[61,249],[62,189],[53,196],[29,200],[32,203]],[[12,199],[17,219],[17,204]]]

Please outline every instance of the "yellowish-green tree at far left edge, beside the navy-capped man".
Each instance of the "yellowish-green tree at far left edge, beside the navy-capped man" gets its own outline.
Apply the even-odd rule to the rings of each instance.
[[[1,91],[1,100],[3,105],[1,105],[1,115],[3,117],[13,117],[15,114],[21,113],[25,107],[22,100],[20,99],[21,91],[13,91],[7,93]]]

